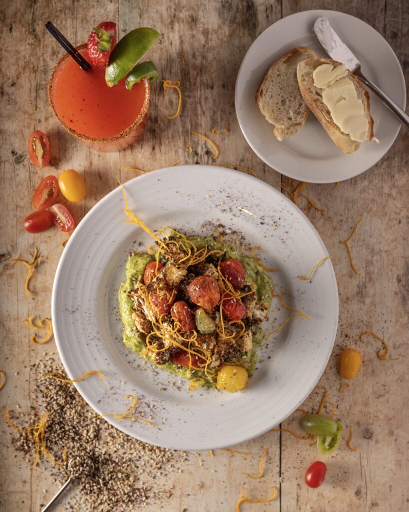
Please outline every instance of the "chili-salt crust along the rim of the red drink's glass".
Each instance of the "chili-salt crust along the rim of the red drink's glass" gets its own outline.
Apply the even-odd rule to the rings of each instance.
[[[80,51],[86,48],[86,44],[80,45],[76,47],[76,50]],[[53,71],[51,72],[50,80],[48,82],[48,103],[50,105],[51,110],[53,111],[54,116],[58,119],[58,121],[62,124],[64,129],[69,132],[71,135],[76,137],[77,139],[80,139],[82,141],[88,142],[88,143],[108,143],[108,142],[116,142],[118,140],[126,138],[128,135],[132,135],[132,132],[137,129],[148,117],[149,112],[149,104],[150,104],[150,82],[147,78],[144,78],[145,83],[145,98],[144,103],[142,105],[142,110],[139,113],[137,119],[128,126],[125,130],[120,132],[117,135],[112,135],[111,137],[88,137],[85,134],[81,134],[77,131],[75,131],[73,128],[70,128],[67,124],[64,123],[64,121],[60,118],[60,116],[57,114],[54,106],[53,101],[53,84],[54,79],[57,73],[58,68],[65,62],[65,60],[69,59],[71,55],[69,53],[64,53],[64,55],[58,60],[56,65],[53,68]],[[107,86],[108,87],[108,86]]]

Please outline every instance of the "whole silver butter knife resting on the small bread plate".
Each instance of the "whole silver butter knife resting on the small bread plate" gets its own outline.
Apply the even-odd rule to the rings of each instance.
[[[338,62],[342,62],[345,67],[353,73],[362,83],[365,83],[367,87],[372,89],[383,104],[395,114],[399,121],[403,124],[406,130],[409,130],[409,116],[403,109],[400,108],[394,101],[391,100],[379,87],[377,87],[371,80],[366,78],[361,71],[361,64],[352,51],[348,48],[345,42],[339,37],[339,35],[331,27],[328,19],[325,16],[316,18],[313,30],[315,37],[320,41],[321,46],[328,53],[328,55]]]

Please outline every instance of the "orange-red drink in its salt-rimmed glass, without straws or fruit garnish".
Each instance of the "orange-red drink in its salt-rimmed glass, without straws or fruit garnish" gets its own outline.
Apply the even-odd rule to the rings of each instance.
[[[86,45],[78,50],[87,58]],[[49,83],[51,108],[65,129],[104,151],[124,149],[142,136],[149,99],[149,80],[131,91],[124,80],[108,87],[105,70],[93,66],[84,71],[68,54],[55,66]]]

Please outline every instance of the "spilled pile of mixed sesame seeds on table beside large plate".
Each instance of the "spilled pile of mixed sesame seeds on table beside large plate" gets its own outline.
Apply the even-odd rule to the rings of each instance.
[[[169,475],[188,460],[186,452],[168,450],[134,439],[103,418],[99,418],[83,400],[71,383],[44,376],[49,372],[66,374],[59,362],[50,356],[33,365],[36,374],[36,396],[31,414],[10,413],[12,421],[21,429],[38,421],[48,413],[44,432],[47,451],[59,464],[66,449],[66,461],[55,467],[41,454],[36,471],[42,465],[52,467],[52,482],[48,485],[50,497],[70,476],[75,478],[74,492],[65,510],[107,512],[108,510],[135,510],[148,502],[169,499],[172,486]],[[129,419],[124,419],[129,421]],[[11,429],[10,429],[11,430]],[[28,470],[35,457],[35,443],[24,433],[11,431],[13,445],[24,454]],[[68,463],[71,461],[70,463]],[[45,504],[45,503],[44,503]]]

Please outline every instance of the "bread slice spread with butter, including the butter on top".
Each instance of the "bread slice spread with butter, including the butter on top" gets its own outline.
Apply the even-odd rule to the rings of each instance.
[[[301,94],[325,131],[344,153],[354,153],[373,137],[369,94],[345,66],[332,59],[299,62]]]

